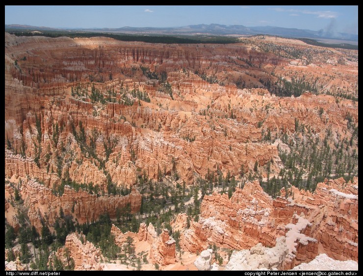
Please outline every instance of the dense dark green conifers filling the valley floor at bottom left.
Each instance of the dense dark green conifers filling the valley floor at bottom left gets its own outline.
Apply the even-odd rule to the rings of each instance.
[[[21,202],[21,197],[15,196],[15,204]],[[65,249],[68,265],[63,265],[62,262],[56,257],[52,257],[49,263],[49,256],[52,251],[56,251],[59,247],[65,245],[66,237],[69,233],[82,231],[86,235],[86,239],[94,243],[95,246],[101,248],[103,255],[108,259],[122,258],[127,261],[131,255],[134,255],[134,246],[132,239],[127,241],[127,246],[123,250],[115,244],[114,237],[111,235],[111,223],[108,214],[104,214],[96,222],[79,224],[74,223],[72,216],[65,216],[63,209],[59,210],[59,217],[56,218],[54,233],[51,233],[49,227],[46,225],[45,220],[42,218],[41,235],[36,231],[34,226],[30,226],[29,218],[27,217],[27,209],[18,203],[18,220],[21,224],[18,234],[15,233],[14,228],[8,223],[5,224],[5,248],[9,249],[8,261],[15,260],[15,254],[12,250],[15,241],[21,245],[21,258],[23,264],[30,265],[32,269],[36,270],[72,270],[74,268],[74,261],[70,258],[67,248]],[[124,227],[126,231],[138,231],[139,221],[135,220],[135,215],[131,215],[130,205],[118,210],[117,214],[118,223]],[[161,226],[160,226],[161,227]],[[28,243],[31,243],[35,248],[30,252]],[[144,260],[146,258],[143,258]],[[141,259],[140,259],[141,260]],[[138,262],[137,262],[138,263]],[[141,266],[141,263],[140,263]]]

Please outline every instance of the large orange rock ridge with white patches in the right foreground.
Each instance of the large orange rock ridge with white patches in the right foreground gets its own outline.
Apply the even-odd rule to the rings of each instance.
[[[250,249],[259,243],[275,247],[276,238],[283,237],[288,248],[283,269],[310,261],[319,252],[357,260],[358,178],[348,183],[342,178],[326,180],[315,193],[291,189],[294,199],[272,199],[254,181],[237,188],[230,199],[227,194],[205,195],[199,221],[182,232],[181,248]]]

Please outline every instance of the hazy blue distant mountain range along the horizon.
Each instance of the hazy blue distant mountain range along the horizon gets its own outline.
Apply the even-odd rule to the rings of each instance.
[[[324,30],[314,31],[309,29],[281,28],[272,26],[245,27],[242,25],[219,25],[219,24],[200,24],[185,27],[173,28],[48,28],[27,25],[5,25],[7,30],[72,30],[88,32],[110,32],[110,33],[132,33],[132,34],[168,34],[168,35],[256,35],[268,34],[292,38],[312,38],[312,39],[335,39],[350,40],[358,42],[358,34],[326,32]]]

